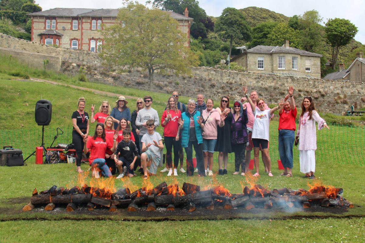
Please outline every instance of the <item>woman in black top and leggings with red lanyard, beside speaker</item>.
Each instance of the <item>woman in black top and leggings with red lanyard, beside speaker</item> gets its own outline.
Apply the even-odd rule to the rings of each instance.
[[[85,98],[78,99],[78,109],[72,113],[72,143],[76,150],[77,172],[84,172],[81,169],[82,149],[84,148],[84,138],[89,134],[89,114],[85,112]]]

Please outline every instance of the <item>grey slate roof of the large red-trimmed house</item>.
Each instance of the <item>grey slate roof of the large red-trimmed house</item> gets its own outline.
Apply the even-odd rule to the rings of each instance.
[[[101,8],[101,9],[93,9],[93,8],[53,8],[41,12],[28,13],[30,16],[70,16],[70,17],[78,17],[78,16],[92,16],[92,17],[116,17],[118,15],[119,9],[111,9],[111,8]],[[164,11],[169,13],[169,15],[173,19],[178,20],[193,20],[191,17],[185,17],[185,15],[181,15],[172,11]]]

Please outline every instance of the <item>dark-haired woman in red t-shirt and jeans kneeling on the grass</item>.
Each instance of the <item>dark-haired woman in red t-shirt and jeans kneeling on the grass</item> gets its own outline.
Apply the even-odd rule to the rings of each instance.
[[[115,143],[114,137],[114,143]],[[88,153],[90,151],[89,165],[94,168],[93,175],[95,177],[99,176],[99,173],[96,173],[96,168],[99,168],[101,171],[101,175],[104,177],[111,177],[112,174],[109,170],[108,165],[105,164],[105,152],[107,149],[110,149],[112,152],[115,152],[115,146],[105,139],[105,129],[104,124],[98,123],[95,128],[94,136],[88,136],[84,138],[85,146],[84,153]]]

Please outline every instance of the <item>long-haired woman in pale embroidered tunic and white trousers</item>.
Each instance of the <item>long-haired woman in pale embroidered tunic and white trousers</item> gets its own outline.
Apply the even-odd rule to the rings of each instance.
[[[316,179],[314,171],[316,167],[315,150],[317,149],[316,123],[318,130],[323,127],[328,128],[324,121],[317,113],[312,97],[305,96],[301,103],[301,114],[299,117],[299,125],[295,137],[295,144],[299,139],[299,163],[300,172],[306,173],[305,178]]]

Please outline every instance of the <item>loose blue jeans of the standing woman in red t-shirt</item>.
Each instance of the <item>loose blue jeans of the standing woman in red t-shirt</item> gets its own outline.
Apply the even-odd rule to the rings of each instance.
[[[279,156],[284,168],[293,168],[294,131],[279,130]]]

